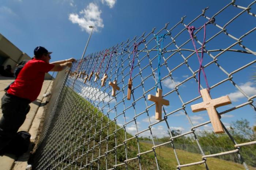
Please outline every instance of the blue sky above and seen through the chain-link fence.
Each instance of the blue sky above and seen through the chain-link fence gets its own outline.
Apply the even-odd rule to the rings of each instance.
[[[82,56],[84,46],[87,38],[89,37],[89,25],[94,25],[95,29],[87,48],[86,55],[105,50],[117,43],[126,41],[128,38],[133,39],[135,35],[140,36],[143,32],[146,32],[147,35],[152,31],[153,27],[156,27],[156,33],[164,27],[167,22],[170,23],[168,26],[168,29],[170,29],[180,21],[182,16],[185,15],[187,17],[184,19],[184,23],[188,24],[202,12],[202,9],[207,6],[210,8],[207,9],[206,15],[211,17],[230,2],[231,1],[222,0],[1,0],[0,33],[31,57],[33,56],[33,49],[40,45],[46,47],[49,51],[53,51],[52,61],[67,59],[70,57],[79,59]],[[236,1],[236,4],[243,7],[247,7],[250,3],[252,3],[251,0]],[[241,11],[241,9],[231,6],[223,11],[221,15],[216,16],[216,23],[220,26],[224,26],[227,21]],[[252,5],[251,11],[254,11],[255,13],[255,4]],[[202,18],[197,20],[194,24],[196,27],[199,27],[205,22],[206,20]],[[245,32],[253,29],[256,26],[255,23],[255,17],[244,13],[241,17],[237,18],[227,26],[226,29],[230,34],[239,38]],[[177,29],[172,31],[172,35],[176,35],[183,28],[184,27],[182,26],[177,27]],[[219,31],[220,30],[216,29],[216,27],[208,25],[207,38]],[[160,34],[163,33],[166,32],[161,32]],[[200,41],[203,38],[202,35],[202,31],[197,35]],[[149,40],[151,38],[153,38],[152,35],[147,39]],[[256,51],[255,42],[253,42],[255,38],[256,33],[254,31],[250,36],[243,39],[243,45],[252,51]],[[181,45],[188,39],[189,34],[184,32],[184,34],[181,34],[179,38],[176,39],[176,43]],[[148,44],[148,49],[151,49],[156,45],[154,42],[155,41],[152,41]],[[170,42],[170,38],[165,39],[164,46]],[[234,42],[235,41],[227,37],[227,35],[220,34],[218,38],[211,40],[211,42],[207,44],[207,49],[225,49]],[[174,46],[167,47],[166,50],[172,50],[173,47]],[[199,44],[197,43],[197,48],[198,47]],[[130,48],[132,47],[130,46]],[[192,43],[189,42],[184,46],[184,48],[193,50]],[[232,49],[244,50],[238,45],[232,47]],[[220,53],[220,51],[213,52],[212,54],[217,55],[218,53]],[[153,54],[153,52],[151,52],[151,54]],[[183,54],[188,56],[189,52],[184,51]],[[157,55],[156,51],[151,57],[155,57],[155,55]],[[143,55],[140,56],[142,57]],[[179,57],[180,55],[174,55],[174,57],[170,58],[167,64],[168,67],[174,68],[177,66],[177,63],[181,62]],[[204,63],[210,62],[210,59],[211,58],[205,54]],[[227,52],[218,58],[219,64],[229,73],[254,60],[255,55],[233,52]],[[145,66],[147,64],[148,60],[145,60],[141,65]],[[190,58],[189,65],[194,71],[198,69],[198,61],[195,55]],[[154,69],[157,67],[157,59],[154,59],[153,67]],[[164,67],[161,68],[161,74],[162,77],[164,77],[167,75],[168,71]],[[233,75],[233,80],[242,90],[245,91],[246,94],[248,94],[248,96],[256,94],[255,81],[252,80],[253,70],[255,70],[255,64]],[[128,70],[126,71],[128,72]],[[138,72],[138,68],[137,70],[135,68],[133,75],[135,75],[136,72]],[[143,77],[146,77],[148,74],[150,74],[150,70],[143,72]],[[192,76],[192,73],[188,72],[188,68],[185,66],[180,67],[180,69],[177,69],[177,71],[174,71],[172,74],[176,85]],[[227,78],[227,76],[223,74],[216,65],[211,65],[206,68],[206,74],[210,86]],[[127,81],[128,80],[125,80],[125,83],[127,83]],[[139,83],[139,80],[135,80],[134,85],[136,83]],[[147,80],[145,88],[150,89],[154,84],[155,81],[152,76],[152,78]],[[94,86],[96,88],[98,87],[97,85],[99,85],[99,82],[98,84],[89,82],[87,85]],[[174,86],[169,78],[163,80],[162,85],[164,94],[172,90]],[[204,81],[202,81],[202,85],[205,87]],[[103,90],[102,88],[99,89]],[[198,96],[197,84],[192,79],[181,85],[179,90],[184,102]],[[126,89],[124,91],[126,92]],[[109,93],[110,89],[105,89],[105,92]],[[135,95],[135,98],[142,95],[141,91],[138,91],[136,94],[137,96]],[[151,90],[148,94],[155,95],[155,91]],[[246,98],[229,81],[218,86],[218,88],[212,89],[211,91],[212,98],[224,95],[230,96],[232,105],[218,108],[219,112],[246,102]],[[118,97],[117,100],[121,100],[122,97]],[[166,99],[170,100],[170,106],[166,107],[167,113],[181,107],[176,94],[174,95],[172,93],[167,95]],[[131,104],[129,101],[126,102],[127,105]],[[201,102],[201,99],[192,102],[192,104],[199,102]],[[140,113],[145,110],[144,101],[139,101],[138,104],[139,105],[136,106],[136,109],[137,112]],[[148,101],[148,104],[151,105],[152,102]],[[192,113],[189,106],[186,108],[186,111],[189,116],[192,117],[191,119],[194,125],[209,120],[206,112]],[[126,121],[132,120],[133,115],[126,114]],[[150,117],[152,116],[154,116],[154,107],[151,107],[150,109]],[[114,116],[110,116],[110,118],[113,117]],[[253,111],[249,105],[246,105],[245,107],[225,114],[222,116],[222,121],[229,126],[231,121],[241,118],[248,119],[250,124],[253,125],[255,122],[255,111]],[[146,119],[146,115],[138,117],[139,124],[137,127],[139,128],[139,131],[148,127],[149,122]],[[124,123],[124,120],[121,118],[118,118],[118,121],[120,125]],[[154,119],[151,120],[151,123],[152,121],[155,122]],[[190,128],[188,120],[181,112],[177,112],[169,116],[168,123],[173,130],[180,129],[182,132],[187,132]],[[153,135],[158,135],[160,137],[165,134],[167,135],[166,124],[164,122],[157,124],[154,128],[155,134]],[[129,132],[134,134],[136,128],[135,125],[131,123],[127,125],[127,129]],[[202,129],[211,130],[212,128],[211,125],[208,124],[202,127]],[[161,131],[161,133],[158,133],[159,131]]]

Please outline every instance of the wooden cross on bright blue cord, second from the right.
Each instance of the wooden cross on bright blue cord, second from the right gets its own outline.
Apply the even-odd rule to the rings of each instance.
[[[155,119],[162,120],[162,105],[169,106],[169,100],[162,98],[162,90],[157,88],[156,95],[148,94],[147,100],[155,102]]]

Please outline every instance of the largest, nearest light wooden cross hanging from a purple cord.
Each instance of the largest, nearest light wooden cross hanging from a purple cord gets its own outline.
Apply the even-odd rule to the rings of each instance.
[[[207,113],[208,113],[208,116],[210,117],[211,124],[215,134],[224,133],[216,108],[227,105],[227,104],[231,104],[229,96],[223,96],[223,97],[211,99],[211,96],[208,93],[207,89],[200,90],[200,92],[203,98],[203,102],[199,104],[191,105],[192,111],[199,112],[199,111],[207,110]]]

